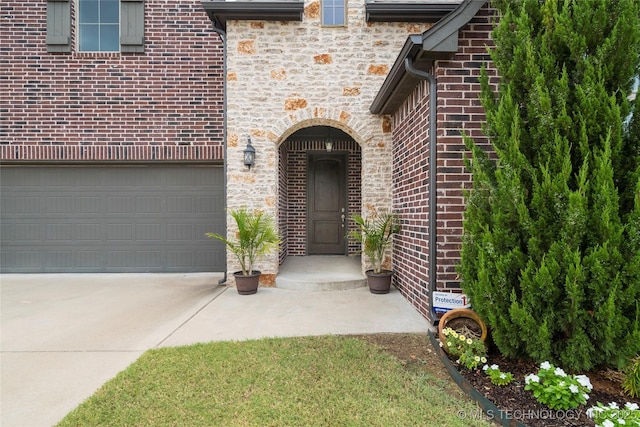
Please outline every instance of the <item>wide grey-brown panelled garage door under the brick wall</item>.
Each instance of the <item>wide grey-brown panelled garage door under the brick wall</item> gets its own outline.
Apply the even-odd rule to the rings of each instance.
[[[2,166],[0,271],[224,271],[221,166]]]

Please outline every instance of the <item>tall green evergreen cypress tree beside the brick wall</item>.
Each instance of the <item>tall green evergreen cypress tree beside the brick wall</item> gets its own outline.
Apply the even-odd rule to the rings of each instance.
[[[507,356],[621,366],[640,351],[637,108],[623,125],[640,1],[492,4],[501,82],[495,94],[483,73],[481,99],[495,156],[467,139],[463,290]]]

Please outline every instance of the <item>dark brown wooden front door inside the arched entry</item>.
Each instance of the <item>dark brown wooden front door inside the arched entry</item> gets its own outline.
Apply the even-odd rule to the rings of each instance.
[[[307,253],[345,254],[346,154],[307,157]]]

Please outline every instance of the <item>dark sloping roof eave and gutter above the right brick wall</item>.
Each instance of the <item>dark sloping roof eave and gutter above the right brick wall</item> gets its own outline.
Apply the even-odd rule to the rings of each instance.
[[[392,114],[404,102],[420,81],[407,72],[405,59],[418,69],[431,67],[434,61],[449,59],[458,52],[458,31],[471,21],[485,0],[464,0],[444,18],[422,34],[411,34],[382,83],[369,111]]]

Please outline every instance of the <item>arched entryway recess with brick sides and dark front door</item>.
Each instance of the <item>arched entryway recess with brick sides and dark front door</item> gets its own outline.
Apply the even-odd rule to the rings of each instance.
[[[361,211],[362,155],[347,133],[330,126],[298,130],[278,150],[280,264],[288,256],[352,255],[346,238]]]

